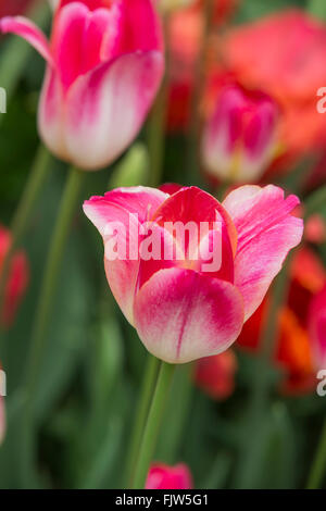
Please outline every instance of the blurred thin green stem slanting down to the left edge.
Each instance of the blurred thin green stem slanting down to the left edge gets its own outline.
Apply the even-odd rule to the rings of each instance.
[[[11,246],[4,257],[1,266],[1,276],[0,276],[0,311],[3,310],[3,301],[5,297],[5,286],[10,273],[12,257],[20,246],[22,237],[25,233],[26,226],[28,224],[33,208],[37,200],[37,197],[40,192],[42,184],[45,182],[49,163],[50,163],[50,153],[48,150],[40,146],[38,149],[32,172],[29,174],[27,184],[25,186],[23,196],[14,214],[12,225],[11,225]]]

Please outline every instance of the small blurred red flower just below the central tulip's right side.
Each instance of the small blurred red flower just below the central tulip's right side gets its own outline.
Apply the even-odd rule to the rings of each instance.
[[[231,349],[205,357],[196,364],[195,381],[213,399],[227,399],[235,389],[237,359]]]

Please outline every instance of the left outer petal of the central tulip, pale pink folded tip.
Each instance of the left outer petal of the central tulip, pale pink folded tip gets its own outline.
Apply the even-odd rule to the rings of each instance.
[[[147,220],[148,213],[154,211],[165,198],[165,194],[152,188],[120,188],[109,191],[104,197],[92,197],[85,201],[84,212],[99,229],[104,244],[109,239],[105,228],[110,222],[121,222],[125,225],[125,234],[118,235],[118,242],[125,244],[126,253],[129,254],[131,244],[135,247],[139,246],[140,224]],[[111,290],[126,319],[133,324],[139,257],[115,261],[108,260],[105,257],[104,266]]]

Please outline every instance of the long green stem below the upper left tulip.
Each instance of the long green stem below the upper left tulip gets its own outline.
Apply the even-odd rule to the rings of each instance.
[[[64,247],[68,236],[72,219],[76,211],[76,204],[78,201],[84,175],[85,173],[74,167],[70,171],[65,190],[60,204],[59,216],[54,232],[52,234],[39,300],[36,309],[35,322],[32,331],[30,352],[26,369],[26,400],[22,432],[23,483],[27,483],[29,479],[30,462],[33,462],[33,403],[35,401],[36,385],[46,348],[45,338],[47,326],[50,320]]]

